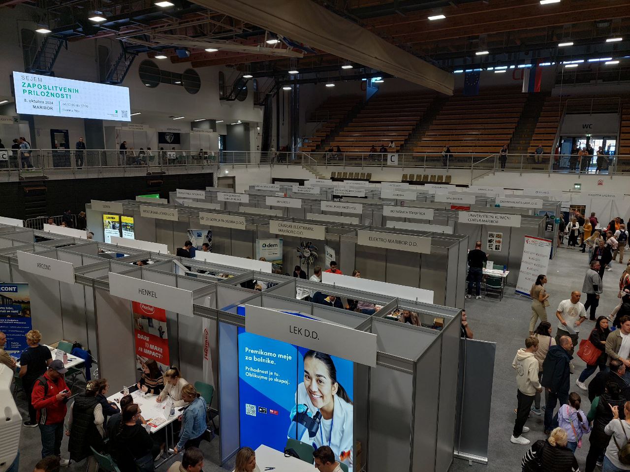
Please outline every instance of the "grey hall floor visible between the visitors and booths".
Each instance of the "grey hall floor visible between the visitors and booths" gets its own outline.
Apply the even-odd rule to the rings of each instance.
[[[558,255],[549,264],[547,278],[547,292],[551,294],[551,306],[547,308],[547,315],[556,332],[557,323],[554,322],[555,310],[561,300],[569,298],[570,293],[574,289],[581,289],[583,276],[587,269],[587,254],[582,254],[578,250],[568,250],[561,248]],[[617,305],[617,281],[623,271],[625,264],[613,262],[613,270],[606,272],[604,276],[604,294],[600,300],[598,315],[609,315],[612,308]],[[490,425],[490,445],[488,451],[488,465],[471,464],[467,461],[454,459],[454,463],[450,468],[451,472],[456,471],[517,471],[520,470],[520,459],[527,451],[528,446],[518,446],[510,442],[512,428],[515,415],[513,408],[516,404],[516,381],[515,374],[512,369],[512,359],[517,349],[524,345],[525,337],[528,334],[528,325],[530,318],[530,301],[519,296],[513,295],[513,289],[507,290],[507,295],[502,301],[494,299],[483,300],[467,300],[466,311],[469,323],[474,331],[476,339],[483,339],[497,343],[495,376],[493,383],[493,402],[491,408],[491,425]],[[587,337],[593,327],[593,323],[585,322],[582,325],[580,338]],[[582,408],[588,412],[590,404],[586,392],[583,392],[575,386],[575,379],[580,374],[585,364],[579,357],[575,357],[576,374],[571,376],[571,391],[578,391],[582,398]],[[587,381],[588,383],[588,381]],[[25,404],[22,396],[18,395],[18,406],[25,413]],[[542,417],[531,415],[527,422],[531,431],[525,434],[525,437],[532,442],[537,439],[543,439],[542,433]],[[205,472],[219,472],[222,469],[218,463],[218,446],[219,441],[215,439],[212,443],[203,442],[202,450],[206,456]],[[20,472],[30,472],[40,459],[40,434],[39,430],[32,428],[23,428],[21,433],[20,451]],[[578,449],[576,457],[580,468],[583,468],[586,455],[588,452],[588,441],[584,441],[582,449]],[[62,455],[67,457],[67,437],[64,436],[62,444]],[[159,472],[165,471],[169,464],[176,459],[172,459],[169,463],[164,464]],[[232,470],[233,463],[228,464],[228,470]],[[83,471],[85,463],[71,464],[69,470]],[[385,472],[385,471],[374,471]]]

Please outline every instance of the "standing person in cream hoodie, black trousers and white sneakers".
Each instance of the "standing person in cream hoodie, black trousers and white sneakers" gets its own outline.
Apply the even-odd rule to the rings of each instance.
[[[528,337],[525,339],[525,349],[518,349],[516,357],[512,361],[512,367],[516,371],[516,385],[518,390],[516,398],[518,401],[516,420],[510,442],[514,444],[529,444],[529,439],[521,434],[529,431],[525,426],[529,410],[534,403],[536,392],[541,393],[542,387],[538,381],[538,360],[534,357],[534,352],[538,351],[538,338]]]

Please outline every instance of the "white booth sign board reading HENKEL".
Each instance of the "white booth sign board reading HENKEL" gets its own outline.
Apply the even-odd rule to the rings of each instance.
[[[108,276],[110,293],[113,296],[157,306],[169,312],[181,313],[181,315],[189,317],[193,315],[193,293],[191,290],[113,272],[110,272]]]

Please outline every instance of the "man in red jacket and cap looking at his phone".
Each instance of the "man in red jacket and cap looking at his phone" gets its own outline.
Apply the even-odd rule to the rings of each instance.
[[[53,454],[61,456],[66,402],[70,398],[70,389],[64,379],[67,371],[64,362],[55,359],[50,362],[48,370],[33,385],[31,403],[37,410],[37,423],[42,435],[42,458]],[[68,464],[68,459],[61,459],[62,466]]]

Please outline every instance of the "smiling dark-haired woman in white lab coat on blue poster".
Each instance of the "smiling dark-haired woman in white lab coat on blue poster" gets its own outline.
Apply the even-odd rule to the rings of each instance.
[[[296,397],[297,405],[305,403],[311,415],[318,410],[322,415],[319,430],[311,438],[313,447],[331,447],[335,458],[352,472],[352,400],[338,383],[335,364],[328,354],[318,351],[304,354],[304,381],[297,386]]]

